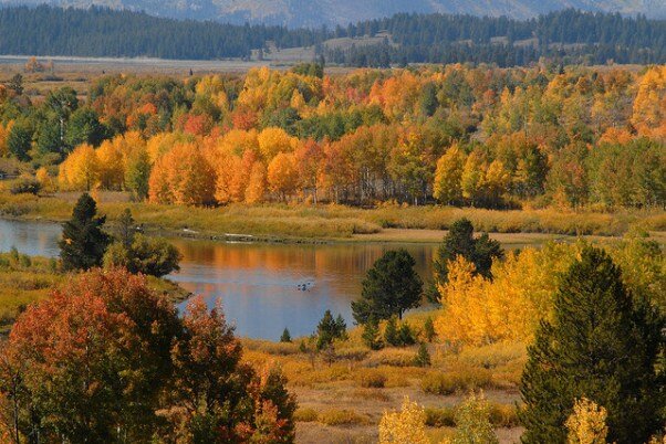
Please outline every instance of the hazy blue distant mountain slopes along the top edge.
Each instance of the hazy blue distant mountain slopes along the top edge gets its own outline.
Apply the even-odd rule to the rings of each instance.
[[[157,17],[290,28],[346,25],[398,12],[469,13],[529,19],[566,8],[666,18],[666,0],[0,0],[0,4],[51,4],[145,11]]]

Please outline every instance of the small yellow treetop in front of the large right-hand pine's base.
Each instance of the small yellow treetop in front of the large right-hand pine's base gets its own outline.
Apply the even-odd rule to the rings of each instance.
[[[573,413],[566,420],[568,444],[606,444],[606,409],[585,398],[575,402]]]

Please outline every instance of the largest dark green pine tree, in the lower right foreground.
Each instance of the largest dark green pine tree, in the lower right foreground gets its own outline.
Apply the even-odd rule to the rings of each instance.
[[[608,255],[585,247],[562,277],[522,376],[524,444],[565,443],[564,423],[583,397],[608,412],[608,442],[645,443],[664,424],[666,323],[632,297]]]

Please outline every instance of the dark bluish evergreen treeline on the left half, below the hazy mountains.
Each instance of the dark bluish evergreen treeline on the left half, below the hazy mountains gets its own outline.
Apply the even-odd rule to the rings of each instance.
[[[274,41],[279,47],[310,46],[325,30],[178,21],[143,12],[93,7],[0,8],[0,53],[216,60],[249,57]]]

